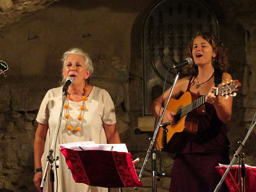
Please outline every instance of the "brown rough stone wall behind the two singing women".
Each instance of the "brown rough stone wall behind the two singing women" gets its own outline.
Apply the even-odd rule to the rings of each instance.
[[[0,12],[11,20],[0,30],[0,60],[9,65],[7,77],[0,76],[0,191],[35,191],[35,117],[46,91],[59,85],[60,58],[70,47],[81,47],[91,55],[91,84],[106,89],[113,98],[121,141],[133,158],[141,159],[135,165],[139,173],[150,137],[150,133],[133,133],[142,116],[141,23],[155,1],[38,1],[42,9],[31,12],[32,7],[21,9],[29,5],[26,2],[12,1],[13,5],[2,6]],[[236,0],[206,3],[217,15],[220,37],[228,48],[230,73],[243,85],[234,98],[233,118],[228,124],[232,158],[256,111],[255,5]],[[15,19],[12,14],[8,17],[12,6],[26,11]],[[245,147],[245,162],[251,165],[255,165],[255,133]],[[173,155],[163,156],[166,177],[158,182],[158,191],[168,191],[170,183]],[[144,187],[138,191],[150,191],[150,161],[142,182]]]

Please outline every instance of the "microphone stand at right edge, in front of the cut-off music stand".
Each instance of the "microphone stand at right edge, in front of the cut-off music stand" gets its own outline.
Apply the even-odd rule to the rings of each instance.
[[[256,113],[255,113],[255,115],[256,115]],[[254,116],[255,116],[255,115],[254,115]],[[246,136],[245,136],[243,142],[238,141],[238,144],[239,144],[240,146],[238,147],[236,153],[234,154],[234,157],[233,157],[232,161],[230,162],[230,164],[229,164],[229,166],[228,166],[226,172],[223,174],[223,176],[222,176],[220,182],[219,182],[218,185],[216,186],[214,192],[218,192],[218,191],[220,190],[220,187],[221,187],[221,185],[222,185],[222,182],[223,182],[224,179],[226,178],[226,176],[227,176],[229,170],[231,169],[231,166],[235,163],[236,158],[237,158],[237,157],[242,157],[242,162],[243,162],[243,158],[244,158],[244,157],[243,157],[243,151],[242,151],[242,149],[243,149],[243,147],[245,146],[245,142],[246,142],[247,139],[249,138],[249,136],[250,136],[250,134],[251,134],[251,132],[252,132],[252,130],[253,130],[255,124],[256,124],[256,120],[254,120],[254,123],[250,126],[250,129],[249,129],[249,131],[247,132],[247,134],[246,134]],[[241,153],[242,153],[242,154],[241,154]],[[243,163],[242,163],[242,164],[243,164]],[[243,166],[244,166],[244,165],[243,165]],[[243,169],[243,167],[242,167],[242,169]],[[242,179],[243,179],[243,180],[242,180],[242,191],[244,192],[244,191],[245,191],[245,186],[244,186],[244,185],[245,185],[245,183],[244,183],[245,170],[243,170],[243,171],[244,171],[244,174],[243,174],[243,177],[242,177]],[[240,180],[240,179],[239,179],[239,180]]]

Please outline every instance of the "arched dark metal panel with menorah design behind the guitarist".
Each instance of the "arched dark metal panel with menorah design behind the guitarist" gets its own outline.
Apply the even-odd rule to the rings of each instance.
[[[143,115],[151,114],[148,106],[161,94],[166,71],[185,59],[189,40],[203,30],[219,35],[213,12],[201,0],[163,0],[148,11],[142,31]],[[169,71],[169,86],[176,73]]]

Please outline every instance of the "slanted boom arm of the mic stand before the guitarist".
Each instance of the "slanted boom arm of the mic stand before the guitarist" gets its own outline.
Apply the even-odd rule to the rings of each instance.
[[[169,100],[170,100],[170,98],[171,98],[171,95],[172,95],[174,86],[175,86],[175,84],[176,84],[177,81],[178,81],[178,78],[179,78],[179,71],[178,71],[177,74],[176,74],[176,77],[175,77],[175,80],[174,80],[174,82],[173,82],[172,89],[171,89],[171,91],[170,91],[169,97],[168,97],[168,99],[167,99],[167,102],[165,103],[163,113],[162,113],[161,117],[159,118],[159,121],[157,122],[156,129],[155,129],[155,131],[154,131],[153,138],[152,138],[151,141],[150,141],[150,145],[149,145],[149,148],[148,148],[148,150],[147,150],[147,155],[146,155],[146,157],[145,157],[145,161],[144,161],[144,163],[143,163],[143,165],[142,165],[142,167],[141,167],[141,171],[140,171],[140,174],[139,174],[139,177],[138,177],[139,180],[141,179],[142,173],[143,173],[143,171],[144,171],[144,169],[145,169],[145,166],[146,166],[146,164],[147,164],[148,157],[149,157],[149,153],[150,153],[150,151],[152,150],[152,148],[153,148],[153,146],[154,146],[155,139],[156,139],[156,134],[157,134],[157,132],[158,132],[158,130],[159,130],[159,127],[160,127],[160,125],[161,125],[161,122],[162,122],[162,119],[163,119],[165,110],[166,110],[167,105],[168,105],[168,103],[169,103]]]

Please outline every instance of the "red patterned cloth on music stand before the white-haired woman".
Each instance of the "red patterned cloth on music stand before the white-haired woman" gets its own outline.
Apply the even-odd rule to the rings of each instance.
[[[130,153],[61,149],[76,182],[106,188],[141,187]]]

